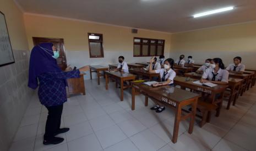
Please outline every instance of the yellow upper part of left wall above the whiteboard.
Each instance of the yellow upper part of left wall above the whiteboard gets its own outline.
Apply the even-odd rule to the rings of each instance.
[[[0,11],[6,16],[6,22],[12,48],[28,50],[23,13],[13,1],[0,0]]]

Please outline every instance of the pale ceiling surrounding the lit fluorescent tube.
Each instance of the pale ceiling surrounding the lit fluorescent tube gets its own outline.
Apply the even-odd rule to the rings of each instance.
[[[256,20],[255,0],[14,0],[26,13],[61,16],[163,32]],[[229,6],[236,8],[201,18],[192,15]]]

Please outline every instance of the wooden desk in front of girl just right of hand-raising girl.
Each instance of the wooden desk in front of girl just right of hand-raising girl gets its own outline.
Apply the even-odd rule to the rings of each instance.
[[[198,80],[198,79],[190,79],[189,81],[186,80],[186,77],[181,77],[181,76],[176,76],[175,79],[173,80],[175,85],[180,85],[181,89],[190,89],[190,90],[195,90],[195,91],[200,91],[203,95],[209,94],[209,97],[202,97],[201,100],[203,101],[209,101],[211,104],[216,104],[216,117],[219,117],[220,115],[220,110],[222,106],[222,98],[224,95],[224,91],[227,88],[228,85],[217,85],[214,87],[209,87],[209,86],[204,86],[204,85],[199,85],[199,84],[194,84],[193,82]],[[219,98],[215,99],[216,95],[219,94]],[[205,124],[205,120],[207,122],[210,121],[211,118],[211,112],[209,111],[208,117],[202,117],[202,121],[200,123],[200,126],[203,126]]]

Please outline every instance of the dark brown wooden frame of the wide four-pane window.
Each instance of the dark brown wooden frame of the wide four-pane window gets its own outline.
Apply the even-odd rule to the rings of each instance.
[[[135,39],[140,39],[140,42],[135,42]],[[148,40],[148,43],[143,43],[143,40]],[[151,43],[151,40],[155,40],[155,43]],[[162,40],[162,44],[159,44],[159,40]],[[139,50],[139,55],[134,55],[134,46],[135,45],[140,45],[140,50]],[[143,45],[148,45],[148,54],[147,55],[143,55]],[[155,46],[155,55],[150,55],[150,47],[151,45]],[[140,37],[134,37],[133,38],[133,56],[134,57],[148,57],[148,56],[160,56],[157,55],[157,49],[158,46],[161,45],[162,46],[162,51],[160,55],[164,55],[165,53],[165,40],[164,39],[150,39],[150,38],[140,38]]]

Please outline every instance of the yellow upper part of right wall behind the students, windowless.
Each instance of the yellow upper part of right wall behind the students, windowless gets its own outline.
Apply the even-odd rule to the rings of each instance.
[[[171,52],[192,55],[196,62],[220,57],[226,64],[241,56],[247,67],[255,67],[256,22],[206,28],[171,35]]]

